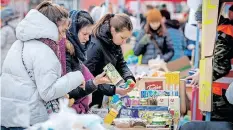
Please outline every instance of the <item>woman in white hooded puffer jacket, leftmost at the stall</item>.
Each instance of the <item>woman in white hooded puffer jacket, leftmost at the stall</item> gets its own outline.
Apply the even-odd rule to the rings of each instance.
[[[61,45],[69,24],[68,12],[51,2],[30,10],[18,24],[18,40],[2,69],[1,130],[23,130],[45,122],[48,112],[44,103],[83,84],[80,71],[66,74],[64,69]]]

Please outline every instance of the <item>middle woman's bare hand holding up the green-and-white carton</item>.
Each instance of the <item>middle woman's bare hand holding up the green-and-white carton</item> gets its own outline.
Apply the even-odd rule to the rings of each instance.
[[[95,86],[98,86],[99,84],[108,84],[111,83],[110,79],[106,76],[106,73],[103,72],[95,77],[93,80],[93,83]]]

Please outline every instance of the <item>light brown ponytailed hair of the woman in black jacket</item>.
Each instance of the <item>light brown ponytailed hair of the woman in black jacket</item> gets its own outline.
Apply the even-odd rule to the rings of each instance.
[[[133,24],[126,14],[106,14],[103,16],[102,19],[100,19],[94,29],[93,29],[93,35],[96,37],[99,35],[99,29],[101,25],[103,25],[105,22],[108,22],[111,27],[114,27],[116,32],[121,32],[123,29],[127,29],[129,31],[133,30]]]

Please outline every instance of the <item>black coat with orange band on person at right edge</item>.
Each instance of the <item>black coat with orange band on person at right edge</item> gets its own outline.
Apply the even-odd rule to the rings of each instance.
[[[214,49],[213,81],[227,75],[232,69],[233,21],[221,17],[220,24],[221,25],[218,26],[218,38]],[[223,29],[222,27],[228,29]],[[233,123],[233,105],[229,104],[226,99],[226,90],[222,91],[223,96],[213,95],[213,112],[211,113],[212,120],[229,121]]]

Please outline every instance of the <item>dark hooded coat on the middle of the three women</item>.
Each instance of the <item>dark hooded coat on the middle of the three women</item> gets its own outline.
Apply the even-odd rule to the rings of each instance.
[[[87,13],[85,11],[72,11],[71,12],[71,19],[72,21],[75,21],[78,19],[79,15],[82,15],[83,13]],[[85,60],[85,46],[82,45],[78,40],[78,31],[80,28],[76,24],[76,22],[71,23],[71,27],[69,28],[67,32],[67,39],[70,41],[70,43],[74,46],[75,54],[71,55],[68,51],[66,52],[66,70],[68,72],[73,72],[80,70],[83,71],[83,63],[82,61]],[[73,77],[75,78],[75,77]],[[73,91],[69,93],[70,98],[74,98],[75,100],[78,100],[82,97],[85,97],[89,95],[90,93],[94,92],[97,89],[97,87],[93,84],[92,80],[86,81],[85,84],[85,90],[83,90],[80,87],[77,87]]]

